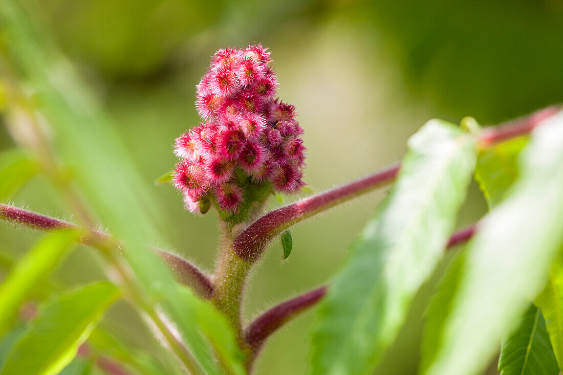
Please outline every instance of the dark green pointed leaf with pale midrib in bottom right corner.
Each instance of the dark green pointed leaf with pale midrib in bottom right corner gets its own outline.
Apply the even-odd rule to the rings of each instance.
[[[538,307],[531,305],[518,323],[502,342],[501,375],[557,375],[559,368]]]

